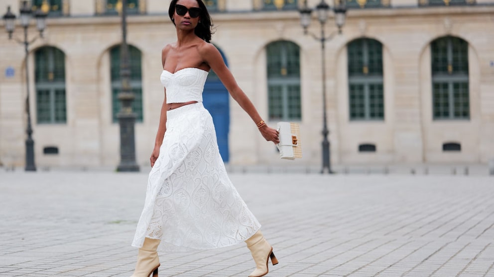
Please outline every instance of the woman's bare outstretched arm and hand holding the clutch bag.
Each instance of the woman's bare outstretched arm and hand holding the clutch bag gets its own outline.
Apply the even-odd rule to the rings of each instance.
[[[227,68],[225,62],[223,61],[223,57],[220,54],[220,51],[216,49],[213,44],[206,43],[199,50],[201,56],[204,57],[205,62],[215,71],[218,75],[222,83],[230,92],[233,99],[239,103],[239,105],[246,111],[246,113],[250,116],[250,118],[254,121],[254,124],[259,124],[262,120],[259,113],[255,109],[254,105],[248,99],[247,95],[242,91],[242,89],[237,84],[232,72]],[[274,143],[279,143],[278,131],[275,129],[269,128],[267,125],[264,125],[259,128],[259,131],[268,141],[273,141]]]

